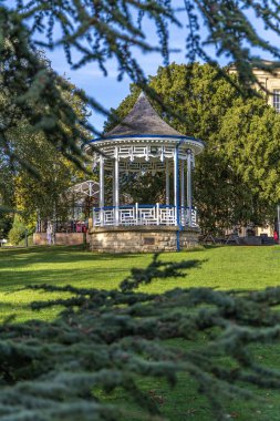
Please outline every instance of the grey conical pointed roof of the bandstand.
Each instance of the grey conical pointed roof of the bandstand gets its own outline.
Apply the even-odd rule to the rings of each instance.
[[[103,138],[148,134],[176,137],[185,136],[159,117],[145,94],[142,92],[132,111],[126,115],[122,123],[110,132],[104,133]]]

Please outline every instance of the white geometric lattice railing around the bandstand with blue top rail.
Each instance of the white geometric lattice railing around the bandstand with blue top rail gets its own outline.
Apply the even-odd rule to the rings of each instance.
[[[174,226],[197,226],[196,209],[191,209],[190,223],[188,207],[179,207],[178,215],[175,206],[169,205],[126,205],[126,206],[105,206],[93,208],[94,226],[137,226],[137,225],[164,225]]]

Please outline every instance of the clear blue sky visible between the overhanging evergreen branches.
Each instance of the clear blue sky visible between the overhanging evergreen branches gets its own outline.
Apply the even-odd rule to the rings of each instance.
[[[14,0],[8,0],[8,3],[12,7]],[[184,0],[172,0],[172,4],[173,7],[184,7]],[[263,39],[271,41],[273,44],[277,44],[276,35],[266,31],[260,21],[256,18],[256,16],[252,12],[248,13],[250,21],[258,29],[258,33],[261,34]],[[185,43],[187,37],[187,16],[185,11],[180,14],[180,21],[183,23],[182,29],[175,25],[169,28],[169,47],[170,49],[180,50],[179,52],[174,52],[170,54],[170,62],[175,61],[176,63],[186,63]],[[147,41],[153,44],[157,43],[155,29],[151,21],[145,21],[144,29]],[[59,31],[58,29],[55,30]],[[204,23],[203,21],[200,21],[201,38],[205,38],[206,34],[207,32],[204,28]],[[208,49],[207,52],[210,55],[215,55],[215,51],[212,49]],[[97,102],[101,103],[107,110],[110,110],[111,107],[117,107],[120,102],[129,93],[131,80],[127,76],[125,76],[121,82],[117,81],[117,71],[114,61],[107,62],[108,75],[104,76],[102,71],[98,69],[97,64],[94,62],[73,71],[66,62],[62,49],[55,49],[54,51],[45,51],[45,54],[50,59],[52,68],[59,74],[64,74],[77,88],[83,89],[89,96],[97,100]],[[158,66],[163,65],[163,58],[159,53],[143,54],[142,52],[136,51],[135,57],[141,63],[146,75],[154,75]],[[262,58],[271,59],[268,55]],[[221,65],[225,65],[227,64],[227,61],[224,58],[219,60],[219,63]],[[105,120],[106,117],[104,115],[95,112],[92,112],[92,115],[90,116],[90,122],[98,131],[102,131]]]

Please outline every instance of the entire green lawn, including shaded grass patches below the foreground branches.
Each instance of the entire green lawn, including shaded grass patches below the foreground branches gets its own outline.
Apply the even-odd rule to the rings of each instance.
[[[53,319],[56,309],[32,312],[28,305],[32,300],[54,298],[55,295],[34,290],[22,290],[28,284],[53,284],[113,288],[124,279],[132,267],[145,267],[152,255],[97,255],[79,247],[32,247],[29,249],[0,248],[0,302],[1,320],[15,314],[18,320],[28,318]],[[208,286],[221,289],[261,289],[280,285],[280,247],[207,247],[194,251],[162,255],[164,260],[193,259],[200,263],[185,278],[155,280],[143,289],[164,291],[177,286]],[[58,294],[56,294],[58,296]],[[179,342],[178,342],[179,345]],[[276,347],[259,347],[258,358],[267,364],[280,368],[280,352]],[[212,420],[209,404],[197,396],[196,384],[180,377],[175,390],[164,383],[145,381],[163,412],[173,421]],[[280,393],[260,391],[262,402],[228,402],[229,419],[242,421],[280,420]],[[122,401],[120,392],[111,399]],[[107,398],[106,398],[107,399]],[[135,418],[136,419],[136,418]],[[127,420],[128,421],[128,420]]]

